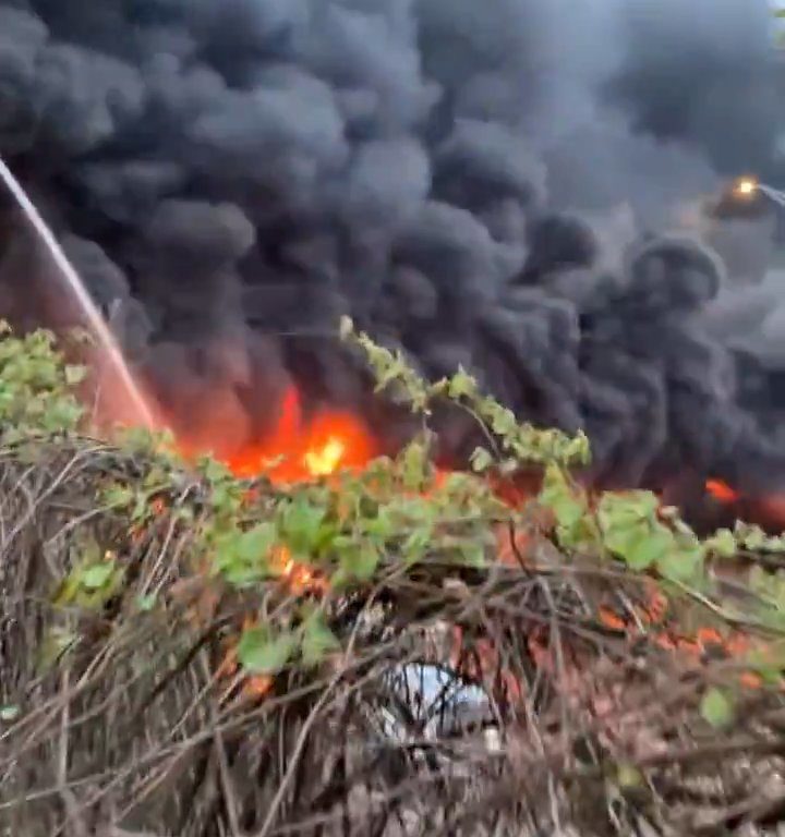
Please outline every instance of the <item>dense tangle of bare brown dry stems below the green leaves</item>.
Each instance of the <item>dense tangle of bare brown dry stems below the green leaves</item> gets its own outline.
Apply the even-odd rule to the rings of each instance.
[[[602,618],[645,605],[642,577],[545,543],[487,569],[389,556],[326,594],[340,653],[254,689],[231,660],[244,620],[307,593],[202,571],[173,514],[198,519],[197,482],[142,531],[96,507],[97,486],[147,469],[89,441],[0,454],[0,834],[605,837],[781,817],[780,698],[750,691],[711,730],[699,701],[738,662]],[[85,543],[118,556],[122,587],[58,606]]]

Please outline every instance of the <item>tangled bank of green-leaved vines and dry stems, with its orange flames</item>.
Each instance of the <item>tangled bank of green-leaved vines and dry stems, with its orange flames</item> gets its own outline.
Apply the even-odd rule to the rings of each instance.
[[[247,478],[166,437],[78,435],[78,369],[45,335],[0,342],[11,833],[776,821],[782,538],[700,538],[653,494],[588,490],[580,434],[343,336],[425,432],[374,457],[359,423],[303,423],[289,396],[277,435],[230,463]],[[472,473],[432,462],[444,401],[485,428]],[[541,486],[511,502],[523,466]]]

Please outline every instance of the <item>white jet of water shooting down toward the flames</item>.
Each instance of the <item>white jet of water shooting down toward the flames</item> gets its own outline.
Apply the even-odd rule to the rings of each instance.
[[[40,216],[35,204],[29,199],[22,184],[16,180],[2,158],[0,158],[0,179],[2,179],[9,192],[13,195],[31,226],[46,245],[52,262],[65,279],[69,290],[73,293],[82,313],[87,319],[87,325],[105,353],[105,359],[108,362],[109,367],[125,390],[129,401],[134,410],[134,420],[144,427],[152,429],[155,426],[153,411],[150,410],[140,385],[134,379],[114,335],[112,335],[109,326],[106,324],[104,317],[101,317],[96,304],[90,299],[89,293],[87,293],[84,282],[71,262],[69,262],[68,256],[60,244],[58,244],[51,229]]]

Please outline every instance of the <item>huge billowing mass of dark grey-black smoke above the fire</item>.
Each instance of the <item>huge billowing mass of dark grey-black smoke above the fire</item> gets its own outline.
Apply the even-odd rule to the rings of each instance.
[[[463,364],[521,415],[587,428],[597,477],[785,482],[772,373],[704,328],[720,263],[674,238],[625,250],[596,215],[653,223],[736,168],[778,170],[765,14],[2,0],[0,155],[174,424],[213,445],[261,433],[292,378],[378,420],[333,337],[350,313],[428,375]],[[3,219],[0,302],[22,316],[20,289],[55,279]]]

